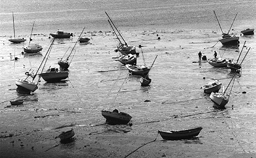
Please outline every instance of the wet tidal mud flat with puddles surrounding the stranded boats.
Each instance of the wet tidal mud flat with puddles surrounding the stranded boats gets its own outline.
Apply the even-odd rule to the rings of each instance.
[[[241,37],[239,47],[225,47],[217,42],[221,35],[209,30],[121,33],[128,44],[142,45],[137,51],[143,51],[147,65],[158,55],[150,71],[150,86],[141,87],[139,77],[130,75],[116,61],[118,41],[113,33],[96,31],[85,33],[91,39],[89,44],[77,46],[65,82],[42,80],[34,95],[21,95],[15,91],[15,79],[24,76],[27,69],[35,69],[45,52],[22,55],[22,44],[11,45],[7,37],[1,37],[5,43],[0,62],[3,157],[254,157],[254,36]],[[74,34],[73,39],[53,45],[51,65],[75,44],[79,33]],[[40,35],[34,40],[46,51],[51,39]],[[236,77],[226,109],[214,109],[200,87],[211,78],[226,86],[233,74],[207,61],[199,63],[197,53],[211,59],[216,50],[222,57],[237,59],[244,41],[251,50],[242,74]],[[10,58],[14,50],[18,61]],[[137,59],[140,64],[141,55]],[[16,97],[24,99],[22,106],[10,106],[7,100]],[[133,125],[105,124],[101,110],[114,108],[129,113]],[[167,141],[157,133],[195,126],[203,127],[195,139]],[[71,128],[75,131],[71,142],[63,144],[55,139]]]

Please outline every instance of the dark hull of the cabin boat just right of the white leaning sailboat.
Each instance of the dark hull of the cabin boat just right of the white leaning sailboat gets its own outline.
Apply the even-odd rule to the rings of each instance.
[[[68,72],[44,72],[39,75],[49,83],[60,82],[61,80],[68,78]]]

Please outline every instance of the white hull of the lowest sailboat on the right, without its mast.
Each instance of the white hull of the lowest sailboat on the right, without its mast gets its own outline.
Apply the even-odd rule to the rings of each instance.
[[[210,93],[210,100],[216,105],[217,108],[224,109],[225,105],[228,104],[229,99],[222,95],[222,93]]]

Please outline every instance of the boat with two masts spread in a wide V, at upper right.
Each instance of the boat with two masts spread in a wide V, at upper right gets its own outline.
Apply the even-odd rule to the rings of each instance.
[[[216,19],[218,22],[217,15],[215,14],[215,11],[213,11],[213,12],[214,12],[214,15],[216,16]],[[236,19],[236,17],[237,17],[237,14],[236,14],[234,20]],[[233,23],[234,23],[234,20],[233,20]],[[233,25],[233,23],[232,23],[232,25]],[[218,22],[218,25],[220,25],[220,22]],[[230,26],[229,31],[232,28],[232,25]],[[240,43],[239,37],[236,37],[235,35],[234,36],[229,35],[229,31],[228,31],[228,33],[224,33],[222,31],[221,25],[220,25],[220,29],[222,32],[222,39],[220,39],[219,41],[222,43],[222,45],[238,45]]]

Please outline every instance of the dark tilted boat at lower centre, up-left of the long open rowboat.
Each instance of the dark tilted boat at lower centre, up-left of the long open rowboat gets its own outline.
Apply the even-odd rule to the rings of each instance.
[[[101,114],[106,118],[106,123],[109,123],[110,125],[126,125],[132,118],[127,113],[118,112],[117,109],[114,109],[113,112],[102,110]]]

